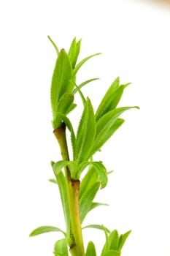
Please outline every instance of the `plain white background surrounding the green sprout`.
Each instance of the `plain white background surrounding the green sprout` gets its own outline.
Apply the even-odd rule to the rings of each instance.
[[[84,90],[95,108],[118,75],[132,82],[120,105],[141,108],[123,115],[125,124],[96,156],[115,170],[97,198],[110,206],[93,210],[85,224],[133,230],[123,256],[170,255],[170,8],[153,2],[1,2],[0,255],[53,255],[59,233],[28,234],[40,225],[64,229],[58,189],[47,181],[50,161],[61,159],[50,123],[56,55],[48,34],[66,50],[73,37],[82,38],[81,59],[103,53],[78,77],[101,78]],[[84,235],[100,255],[104,233]]]

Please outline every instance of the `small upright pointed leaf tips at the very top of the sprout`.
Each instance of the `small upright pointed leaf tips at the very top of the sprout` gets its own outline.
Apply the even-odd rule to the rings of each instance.
[[[68,53],[73,69],[76,65],[76,62],[80,53],[80,45],[81,45],[81,39],[78,42],[76,42],[76,37],[74,37]]]

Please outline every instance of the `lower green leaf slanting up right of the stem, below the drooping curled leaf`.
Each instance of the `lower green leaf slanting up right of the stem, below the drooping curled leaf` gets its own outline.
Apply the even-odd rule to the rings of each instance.
[[[91,203],[93,202],[96,193],[100,187],[100,182],[96,182],[90,188],[88,188],[80,197],[80,219],[81,222],[85,219],[86,215],[90,211]]]

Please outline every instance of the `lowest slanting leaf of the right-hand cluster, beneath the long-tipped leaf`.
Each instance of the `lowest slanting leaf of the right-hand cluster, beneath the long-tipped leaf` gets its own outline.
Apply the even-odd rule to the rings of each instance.
[[[109,140],[109,138],[117,131],[117,129],[120,128],[120,126],[124,123],[125,120],[122,118],[117,118],[117,120],[109,127],[107,132],[105,132],[105,135],[101,137],[99,140],[96,140],[96,143],[94,143],[93,150],[91,154],[93,155],[96,151],[100,150],[101,146],[104,145],[104,143]],[[112,171],[111,171],[112,173]],[[109,174],[109,173],[107,173]]]

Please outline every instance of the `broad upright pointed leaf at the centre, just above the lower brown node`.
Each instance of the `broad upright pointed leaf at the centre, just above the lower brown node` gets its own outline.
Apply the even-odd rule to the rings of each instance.
[[[77,130],[74,160],[80,164],[88,160],[96,133],[96,123],[90,99],[87,99]]]

